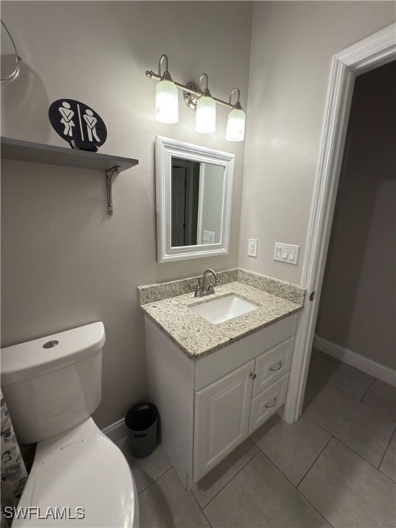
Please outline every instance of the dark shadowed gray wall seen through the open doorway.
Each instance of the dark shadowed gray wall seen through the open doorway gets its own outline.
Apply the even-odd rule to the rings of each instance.
[[[396,368],[396,62],[355,81],[316,332]]]

